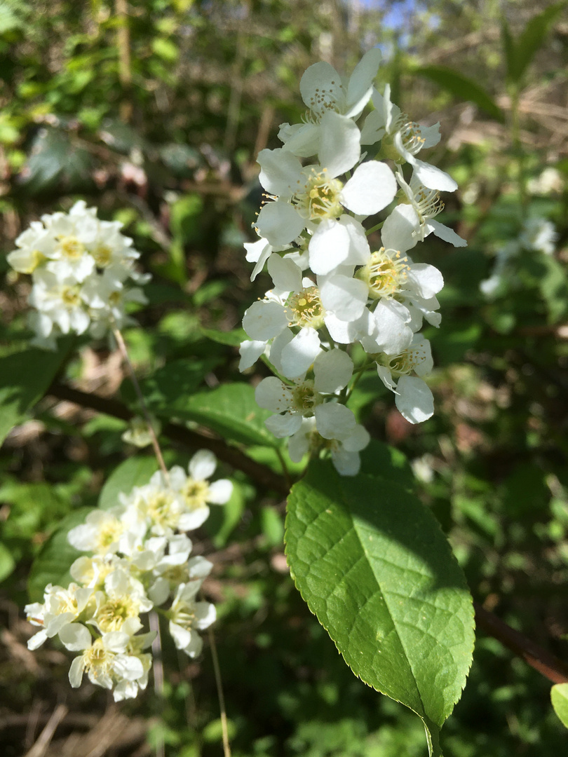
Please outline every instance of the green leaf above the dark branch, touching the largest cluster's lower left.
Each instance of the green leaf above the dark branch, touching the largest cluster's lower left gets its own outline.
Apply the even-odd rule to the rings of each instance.
[[[258,407],[254,389],[248,384],[224,384],[191,397],[179,397],[175,414],[242,444],[266,444],[268,447],[281,444],[281,440],[264,425],[272,413]]]

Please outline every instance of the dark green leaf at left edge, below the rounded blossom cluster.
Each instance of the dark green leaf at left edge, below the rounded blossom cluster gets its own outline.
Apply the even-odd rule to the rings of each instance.
[[[61,340],[60,345],[58,352],[30,349],[0,357],[0,444],[53,381],[70,340]]]

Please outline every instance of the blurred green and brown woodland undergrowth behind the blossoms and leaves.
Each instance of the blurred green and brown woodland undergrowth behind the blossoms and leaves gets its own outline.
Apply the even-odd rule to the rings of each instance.
[[[8,253],[31,220],[79,197],[99,216],[123,221],[154,275],[150,304],[137,314],[141,326],[126,333],[133,360],[163,422],[193,417],[189,407],[184,416],[184,398],[242,380],[240,319],[267,287],[267,276],[250,285],[242,251],[261,202],[257,152],[279,145],[279,123],[301,117],[298,83],[308,65],[323,59],[349,71],[373,45],[384,52],[379,79],[392,83],[393,99],[414,120],[442,123],[429,160],[460,185],[444,221],[469,246],[456,251],[434,238],[426,245],[424,260],[446,282],[442,327],[427,332],[437,366],[435,416],[411,427],[373,378],[360,382],[352,407],[376,438],[410,460],[417,491],[448,534],[475,599],[566,658],[563,3],[0,0],[2,247]],[[545,222],[556,231],[548,251],[535,247],[535,229]],[[29,284],[8,273],[4,255],[0,266],[5,371],[29,336]],[[195,662],[166,648],[166,698],[148,691],[117,709],[90,684],[71,693],[61,650],[45,646],[32,655],[25,646],[33,560],[61,549],[61,521],[76,522],[80,508],[95,506],[105,478],[135,453],[125,450],[126,422],[111,404],[95,413],[65,401],[62,386],[134,402],[128,382],[120,389],[120,357],[108,344],[75,346],[80,351],[0,452],[3,753],[27,753],[64,703],[51,745],[35,757],[146,755],[159,733],[167,755],[217,755],[208,653]],[[160,371],[173,361],[179,376],[164,385]],[[165,435],[164,445],[170,464],[192,452]],[[275,450],[248,444],[245,452],[281,472]],[[293,587],[281,494],[242,471],[234,476],[233,500],[211,517],[196,547],[215,563],[205,587],[220,615],[233,753],[423,755],[417,718],[352,676]],[[549,687],[480,633],[469,683],[445,727],[447,753],[562,754],[566,735]]]

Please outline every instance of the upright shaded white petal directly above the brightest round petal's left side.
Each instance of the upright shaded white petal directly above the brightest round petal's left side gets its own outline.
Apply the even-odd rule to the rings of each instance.
[[[351,170],[361,154],[360,131],[347,116],[328,111],[320,123],[320,165],[330,179]]]

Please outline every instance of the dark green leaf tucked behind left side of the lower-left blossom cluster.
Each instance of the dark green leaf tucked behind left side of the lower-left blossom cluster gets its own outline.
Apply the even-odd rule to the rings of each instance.
[[[69,569],[77,557],[84,553],[71,547],[67,541],[67,533],[71,528],[85,522],[89,512],[92,512],[91,507],[81,507],[70,512],[61,521],[57,531],[54,531],[43,545],[41,552],[32,563],[27,581],[27,590],[32,602],[42,600],[43,592],[48,584],[67,587],[73,580]]]

